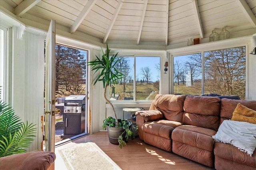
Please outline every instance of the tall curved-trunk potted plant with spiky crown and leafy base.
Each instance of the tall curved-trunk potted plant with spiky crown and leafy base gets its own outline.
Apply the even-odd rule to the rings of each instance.
[[[122,148],[126,145],[125,141],[127,141],[129,137],[134,139],[133,132],[130,130],[132,124],[127,119],[122,119],[118,121],[114,106],[106,97],[106,90],[108,86],[112,87],[113,93],[115,94],[113,87],[115,84],[117,84],[117,80],[120,80],[124,76],[124,74],[122,73],[123,70],[115,68],[115,65],[120,60],[122,60],[122,58],[117,56],[118,53],[110,57],[110,49],[108,49],[108,44],[106,48],[106,53],[104,53],[102,48],[101,50],[102,59],[96,56],[96,59],[94,61],[88,62],[88,65],[92,66],[92,70],[95,70],[94,74],[96,72],[100,73],[94,80],[93,85],[95,85],[99,81],[103,82],[104,98],[106,102],[110,104],[114,112],[114,117],[108,117],[103,121],[103,127],[106,127],[108,130],[108,137],[110,139],[110,143],[116,145],[119,144],[119,147]]]

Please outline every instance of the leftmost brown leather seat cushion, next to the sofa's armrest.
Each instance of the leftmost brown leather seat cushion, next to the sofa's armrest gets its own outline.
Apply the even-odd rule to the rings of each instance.
[[[156,135],[156,136],[160,136],[166,139],[171,139],[172,131],[174,130],[174,128],[180,125],[182,125],[182,123],[177,121],[169,121],[169,120],[145,122],[142,125],[142,131]]]

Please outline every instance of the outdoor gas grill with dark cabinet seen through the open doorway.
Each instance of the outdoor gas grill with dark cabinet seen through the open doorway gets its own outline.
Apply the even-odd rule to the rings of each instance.
[[[62,139],[85,132],[85,95],[70,95],[64,101],[64,133]]]

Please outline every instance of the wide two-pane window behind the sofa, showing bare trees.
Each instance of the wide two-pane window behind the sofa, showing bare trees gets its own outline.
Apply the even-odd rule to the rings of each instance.
[[[174,94],[215,93],[245,99],[245,46],[177,56],[173,67]]]

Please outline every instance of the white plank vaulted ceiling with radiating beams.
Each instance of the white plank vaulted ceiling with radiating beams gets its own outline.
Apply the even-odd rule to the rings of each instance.
[[[83,33],[100,43],[184,44],[188,38],[209,42],[213,29],[230,38],[256,33],[256,0],[1,0],[26,25],[49,23]],[[40,28],[40,24],[38,27]],[[36,25],[33,25],[36,27]],[[58,32],[56,32],[58,34]]]

